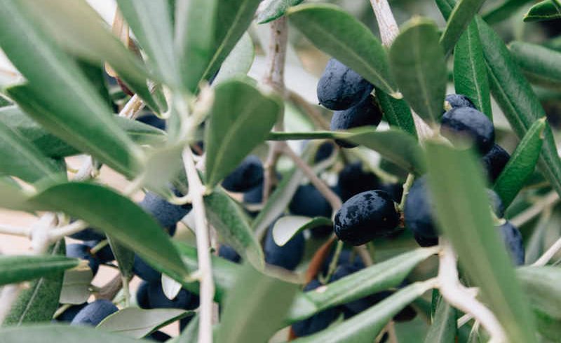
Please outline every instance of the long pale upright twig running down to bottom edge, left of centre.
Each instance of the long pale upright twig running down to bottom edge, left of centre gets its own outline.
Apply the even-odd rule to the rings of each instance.
[[[201,282],[201,317],[198,325],[198,342],[212,342],[212,299],[215,295],[215,285],[212,281],[212,264],[210,262],[210,246],[208,239],[208,225],[206,222],[205,203],[203,195],[205,188],[193,160],[193,153],[189,146],[183,151],[183,162],[189,182],[189,195],[193,200],[195,216],[196,242],[198,256],[198,271],[195,273]]]

